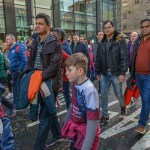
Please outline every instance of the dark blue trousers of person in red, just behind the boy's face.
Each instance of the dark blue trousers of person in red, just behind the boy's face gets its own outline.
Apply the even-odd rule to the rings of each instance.
[[[64,95],[64,98],[65,98],[65,101],[66,101],[66,107],[67,107],[67,110],[70,106],[70,82],[69,81],[63,81],[63,95]]]

